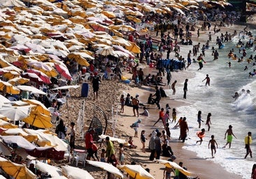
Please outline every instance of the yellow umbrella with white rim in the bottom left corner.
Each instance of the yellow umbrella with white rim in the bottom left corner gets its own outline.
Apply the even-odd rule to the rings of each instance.
[[[10,162],[10,160],[3,157],[0,157],[0,167],[15,179],[36,179],[36,175],[29,171],[26,166]]]

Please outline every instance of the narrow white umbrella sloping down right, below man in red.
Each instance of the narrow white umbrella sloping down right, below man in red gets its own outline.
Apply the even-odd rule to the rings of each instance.
[[[116,177],[123,178],[121,171],[116,168],[115,166],[108,164],[106,162],[97,162],[92,160],[86,160],[86,162],[92,166],[97,166],[101,169],[104,169],[105,171],[108,171],[109,173],[113,173]]]

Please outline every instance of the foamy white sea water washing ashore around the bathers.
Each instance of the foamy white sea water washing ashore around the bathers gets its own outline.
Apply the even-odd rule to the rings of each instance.
[[[248,73],[253,72],[256,66],[253,66],[253,62],[250,64],[246,60],[237,62],[237,60],[227,57],[229,50],[232,50],[232,48],[234,48],[234,53],[238,57],[242,56],[242,54],[239,54],[239,48],[236,48],[238,41],[239,36],[235,36],[232,41],[225,43],[225,48],[221,50],[218,49],[218,45],[211,43],[211,48],[213,46],[218,49],[219,59],[213,61],[210,48],[210,50],[206,50],[206,57],[204,57],[206,64],[204,64],[203,69],[197,71],[199,69],[198,63],[190,65],[187,73],[195,73],[195,76],[188,81],[187,99],[183,99],[183,88],[176,89],[175,96],[172,96],[172,90],[166,90],[166,94],[171,96],[171,99],[188,103],[188,106],[177,108],[177,118],[187,117],[187,124],[190,128],[183,148],[197,152],[198,157],[218,163],[227,171],[248,179],[256,161],[256,76],[249,78]],[[246,43],[248,37],[245,37],[242,41]],[[183,57],[187,57],[189,50],[192,50],[192,46],[181,47],[180,51]],[[247,49],[246,52],[246,59],[250,55],[254,56],[256,54],[253,49]],[[232,63],[231,68],[229,68],[227,62]],[[245,66],[248,66],[246,71],[244,71]],[[211,86],[206,86],[206,81],[202,82],[206,74],[211,78]],[[173,83],[173,80],[175,79],[172,79],[171,83]],[[178,83],[183,87],[184,82],[185,79]],[[251,94],[242,94],[242,89],[250,90]],[[235,92],[240,94],[236,100],[232,97]],[[204,122],[201,122],[201,129],[206,129],[206,136],[201,145],[196,144],[196,141],[199,140],[196,134],[197,131],[200,131],[197,122],[199,110],[201,110],[201,117],[204,120]],[[210,131],[207,131],[208,126],[205,124],[208,113],[212,115]],[[170,124],[171,127],[173,125]],[[231,148],[228,145],[223,148],[226,143],[224,139],[225,132],[229,125],[233,126],[232,129],[236,138],[233,138]],[[179,131],[179,129],[171,129],[172,138],[178,138]],[[248,131],[253,133],[253,144],[251,145],[253,159],[250,158],[250,155],[247,159],[244,159],[246,155],[244,138],[248,135]],[[219,147],[215,158],[211,157],[211,150],[208,149],[208,141],[211,139],[211,135],[215,136]]]

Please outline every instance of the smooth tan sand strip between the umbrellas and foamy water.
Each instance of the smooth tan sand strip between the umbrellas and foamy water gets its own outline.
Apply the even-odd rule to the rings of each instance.
[[[180,78],[180,73],[183,73],[183,71],[179,71],[178,73],[172,73],[172,76],[173,76],[173,74],[176,74],[173,76],[173,78]],[[186,78],[187,78],[187,76],[186,76]],[[148,88],[151,88],[150,90],[152,90],[152,87],[148,87]],[[148,95],[151,92],[150,90],[145,90],[144,87],[142,87],[142,89],[140,87],[138,87],[138,89],[129,90],[127,93],[131,94],[131,96],[140,94],[139,100],[144,102],[144,101],[147,101]],[[171,99],[171,98],[169,99],[169,97],[165,98],[165,99],[162,98],[161,99],[162,107],[165,108],[166,103],[169,103],[171,110],[173,107],[178,108],[179,106],[187,105],[185,102],[180,101],[180,100],[175,100],[175,99]],[[129,111],[127,111],[127,110],[129,110]],[[122,127],[125,127],[125,131],[127,131],[127,134],[129,134],[130,136],[133,136],[134,130],[129,128],[130,124],[132,122],[135,122],[136,119],[138,119],[138,118],[142,119],[141,127],[139,127],[139,129],[138,129],[138,138],[133,138],[134,144],[137,145],[138,148],[136,150],[134,150],[134,155],[131,155],[131,161],[138,162],[139,164],[142,164],[144,166],[144,168],[150,169],[150,173],[152,174],[152,176],[155,176],[155,178],[159,178],[159,175],[162,176],[162,173],[164,172],[164,165],[157,164],[155,162],[151,162],[149,160],[150,152],[143,153],[143,152],[141,152],[141,150],[139,150],[141,148],[141,141],[140,141],[139,136],[140,136],[140,132],[142,129],[145,129],[145,136],[148,136],[154,129],[158,128],[159,131],[162,131],[164,129],[163,127],[161,127],[161,128],[159,127],[159,125],[161,126],[162,123],[157,123],[156,124],[157,127],[152,127],[152,124],[154,124],[154,122],[158,119],[159,110],[156,108],[156,106],[150,105],[150,108],[148,108],[148,110],[150,112],[150,117],[141,117],[141,116],[133,117],[132,108],[125,106],[125,113],[123,113],[124,115],[119,115],[120,119],[118,120],[118,122],[120,122],[120,125]],[[141,108],[139,109],[139,113],[141,113]],[[127,117],[129,115],[131,115],[132,120],[130,120],[130,119],[125,120],[125,118],[127,119]],[[181,115],[180,113],[177,113],[177,118],[179,118],[180,115]],[[148,141],[146,141],[146,143],[145,143],[146,148],[148,148],[148,142],[149,142],[149,138],[148,138]],[[176,139],[176,138],[171,139],[170,145],[171,145],[174,155],[177,157],[177,159],[174,162],[176,162],[176,163],[183,162],[183,166],[186,166],[188,171],[193,173],[192,176],[194,176],[194,177],[199,176],[199,178],[214,179],[214,178],[218,178],[221,174],[221,176],[223,178],[227,178],[227,179],[229,179],[229,178],[230,179],[232,179],[232,178],[241,179],[242,178],[241,176],[236,175],[234,173],[229,173],[228,171],[223,169],[222,166],[220,166],[220,164],[216,164],[214,162],[208,161],[207,159],[197,157],[196,152],[192,152],[190,150],[184,149],[183,148],[184,144],[181,143],[180,141],[178,141],[178,139]],[[131,149],[129,149],[129,150],[131,150]],[[167,159],[167,158],[161,156],[160,159]],[[216,171],[218,171],[218,172],[216,172]],[[172,174],[172,176],[173,176],[173,174]]]

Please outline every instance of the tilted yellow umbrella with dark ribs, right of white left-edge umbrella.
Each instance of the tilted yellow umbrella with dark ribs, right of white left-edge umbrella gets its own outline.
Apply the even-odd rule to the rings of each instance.
[[[50,128],[52,127],[52,123],[50,122],[51,117],[48,115],[44,115],[39,111],[32,111],[29,116],[25,117],[22,121],[31,124],[34,127],[38,128]]]

